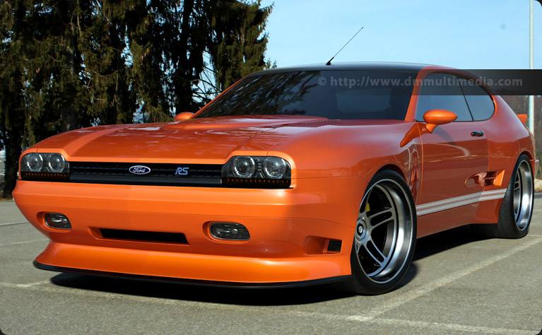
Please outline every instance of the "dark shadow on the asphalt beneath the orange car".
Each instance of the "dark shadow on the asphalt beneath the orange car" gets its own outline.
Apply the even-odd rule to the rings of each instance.
[[[416,261],[432,254],[444,252],[460,245],[481,240],[469,226],[447,230],[418,240],[413,263],[395,290],[416,278]],[[81,290],[118,293],[149,298],[165,298],[228,305],[303,305],[352,297],[336,284],[298,288],[230,288],[190,286],[182,283],[137,281],[125,278],[88,276],[83,274],[58,274],[51,278],[54,285]]]

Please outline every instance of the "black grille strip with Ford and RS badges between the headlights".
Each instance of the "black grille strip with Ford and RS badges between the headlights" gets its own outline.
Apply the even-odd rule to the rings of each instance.
[[[151,171],[135,175],[130,167],[143,165]],[[179,170],[182,169],[182,170]],[[179,173],[177,173],[179,170]],[[164,186],[220,186],[222,165],[70,162],[70,182]],[[184,175],[186,173],[186,175]]]

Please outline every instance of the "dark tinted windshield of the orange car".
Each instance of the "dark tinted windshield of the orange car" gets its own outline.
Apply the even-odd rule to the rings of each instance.
[[[405,119],[418,71],[294,71],[243,78],[196,117]]]

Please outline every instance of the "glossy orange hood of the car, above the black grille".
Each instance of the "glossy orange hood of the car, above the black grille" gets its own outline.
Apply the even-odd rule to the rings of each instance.
[[[212,117],[160,124],[124,124],[78,129],[38,143],[40,152],[57,149],[76,161],[225,160],[262,134],[320,117]],[[254,150],[264,150],[264,144]],[[269,147],[269,145],[267,145]]]

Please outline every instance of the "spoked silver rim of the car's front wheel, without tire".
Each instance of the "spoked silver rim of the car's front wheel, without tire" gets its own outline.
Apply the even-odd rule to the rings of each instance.
[[[416,238],[411,208],[410,198],[394,180],[380,180],[365,193],[354,246],[358,263],[371,281],[388,283],[406,265]]]

